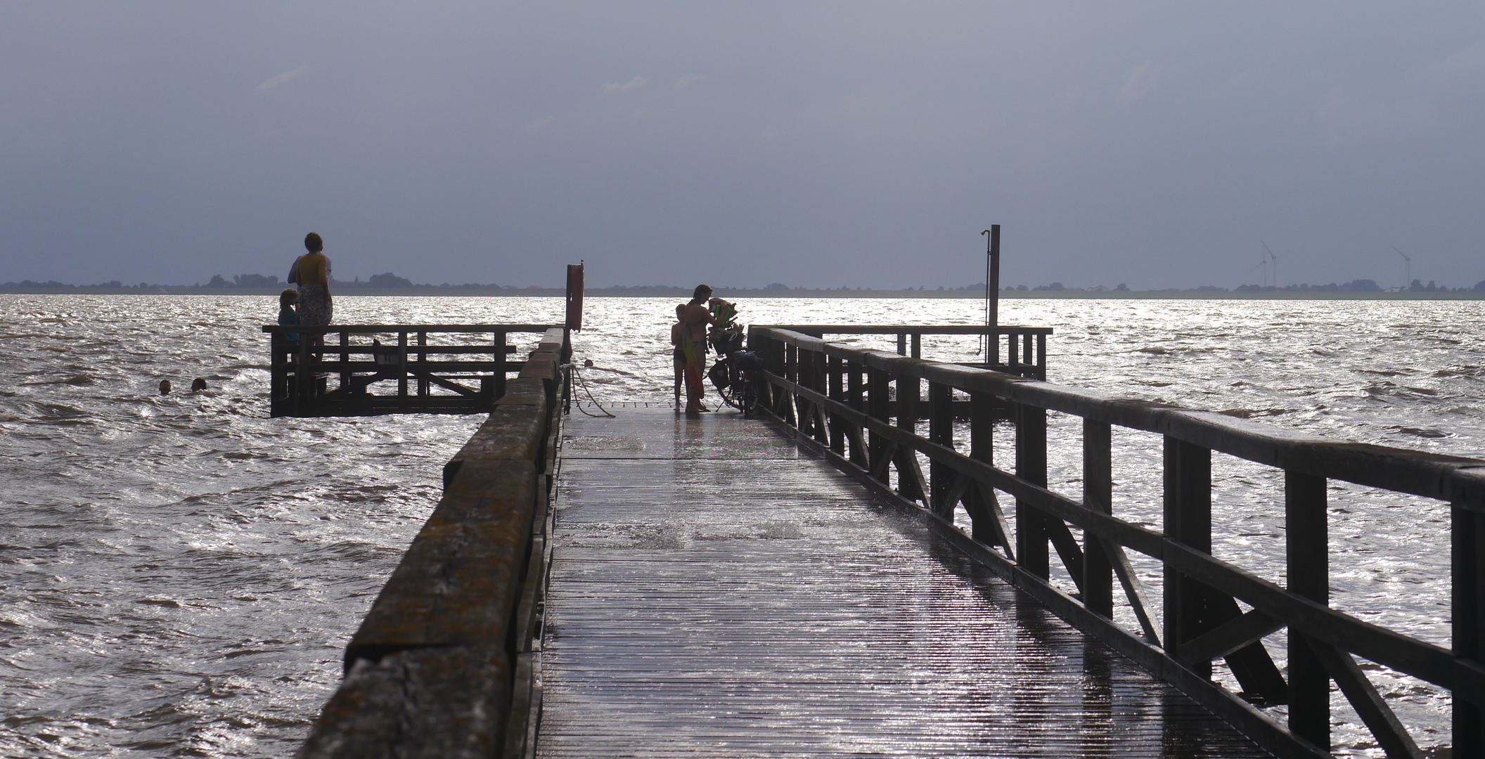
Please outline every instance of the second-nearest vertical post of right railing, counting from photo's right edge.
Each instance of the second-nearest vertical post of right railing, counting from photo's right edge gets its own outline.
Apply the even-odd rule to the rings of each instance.
[[[1329,606],[1325,477],[1285,471],[1285,556],[1290,593]],[[1331,677],[1302,634],[1289,633],[1289,732],[1331,746]]]

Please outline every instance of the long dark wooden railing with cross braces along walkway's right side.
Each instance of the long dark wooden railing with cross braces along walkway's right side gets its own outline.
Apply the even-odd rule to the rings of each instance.
[[[916,514],[1002,578],[1265,749],[1328,756],[1334,680],[1388,756],[1420,756],[1354,654],[1451,691],[1452,756],[1485,755],[1485,460],[1336,443],[1212,411],[852,349],[778,327],[754,327],[750,348],[766,356],[771,397],[763,403],[800,441],[873,490],[918,506]],[[967,395],[971,410],[968,455],[956,450],[955,394]],[[1011,410],[1013,468],[995,463],[996,404]],[[1081,501],[1047,487],[1048,411],[1083,419]],[[918,431],[921,419],[928,422],[927,437]],[[1112,514],[1114,426],[1164,438],[1163,530]],[[1212,452],[1283,471],[1287,587],[1212,557]],[[919,455],[928,460],[927,472]],[[1452,649],[1329,606],[1328,480],[1451,504]],[[1016,499],[1014,524],[996,492]],[[968,535],[953,526],[958,504],[970,515]],[[1069,524],[1083,530],[1081,542]],[[1163,564],[1163,622],[1126,550]],[[1075,594],[1051,582],[1051,553]],[[1112,619],[1114,578],[1138,631]],[[1244,613],[1237,602],[1252,609]],[[1262,640],[1282,628],[1289,639],[1287,679]],[[1218,658],[1227,661],[1243,697],[1212,680]],[[1287,704],[1287,719],[1249,701]]]

